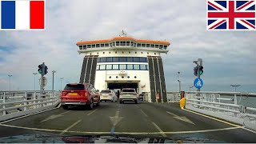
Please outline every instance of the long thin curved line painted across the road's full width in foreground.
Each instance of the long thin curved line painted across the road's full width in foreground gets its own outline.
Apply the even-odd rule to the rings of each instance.
[[[152,122],[154,123],[154,122]],[[6,124],[0,124],[0,126],[18,128],[18,129],[25,129],[25,130],[39,130],[39,131],[50,131],[50,132],[63,132],[63,130],[50,130],[50,129],[38,129],[38,128],[31,128],[31,127],[23,127],[23,126],[11,126]],[[191,133],[205,133],[205,132],[212,132],[212,131],[224,131],[224,130],[234,130],[234,129],[243,129],[244,126],[238,127],[228,127],[223,129],[211,129],[211,130],[192,130],[192,131],[169,131],[169,132],[115,132],[115,134],[191,134]],[[159,128],[160,129],[160,128]],[[110,132],[103,132],[103,131],[66,131],[68,133],[75,133],[75,134],[110,134]]]

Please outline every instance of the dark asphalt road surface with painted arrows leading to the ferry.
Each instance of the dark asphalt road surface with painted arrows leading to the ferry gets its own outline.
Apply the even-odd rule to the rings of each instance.
[[[101,102],[93,110],[62,107],[0,122],[0,138],[20,134],[116,134],[143,137],[256,142],[256,132],[243,126],[181,110],[177,104]]]

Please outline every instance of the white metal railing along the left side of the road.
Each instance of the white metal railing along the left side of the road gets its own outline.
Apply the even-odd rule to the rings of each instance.
[[[6,91],[0,92],[0,121],[46,110],[60,103],[59,91]]]

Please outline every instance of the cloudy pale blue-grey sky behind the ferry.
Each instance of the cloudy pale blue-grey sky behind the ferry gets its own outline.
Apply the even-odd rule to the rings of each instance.
[[[194,60],[202,58],[204,91],[256,92],[256,32],[206,30],[206,0],[48,0],[46,30],[0,31],[0,90],[34,90],[38,65],[46,63],[46,90],[78,82],[82,54],[76,42],[110,39],[125,30],[138,39],[170,42],[162,54],[166,89],[194,82]],[[36,89],[38,90],[36,75]],[[192,88],[191,90],[195,90]]]

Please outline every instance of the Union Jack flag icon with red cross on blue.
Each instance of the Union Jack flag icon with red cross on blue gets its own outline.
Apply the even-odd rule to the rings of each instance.
[[[255,0],[207,0],[207,30],[256,30]]]

